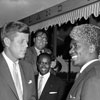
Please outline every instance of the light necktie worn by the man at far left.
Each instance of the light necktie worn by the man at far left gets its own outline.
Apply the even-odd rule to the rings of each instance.
[[[14,63],[13,66],[14,83],[18,93],[19,100],[23,100],[23,92],[21,89],[21,83],[20,83],[17,67],[19,67],[18,63]]]

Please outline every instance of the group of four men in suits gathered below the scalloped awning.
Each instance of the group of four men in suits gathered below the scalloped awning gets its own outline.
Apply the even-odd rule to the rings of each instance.
[[[0,53],[1,100],[99,100],[100,28],[92,24],[75,26],[69,36],[70,56],[80,67],[75,82],[66,93],[66,82],[54,74],[56,60],[46,48],[48,37],[38,30],[34,46],[28,47],[29,26],[15,21],[2,27]],[[55,67],[56,66],[56,67]],[[55,72],[56,73],[56,72]]]

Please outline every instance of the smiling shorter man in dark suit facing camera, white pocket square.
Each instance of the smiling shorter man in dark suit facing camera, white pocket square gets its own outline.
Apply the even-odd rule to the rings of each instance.
[[[39,75],[36,76],[38,99],[64,100],[65,82],[50,73],[50,65],[51,56],[48,53],[42,53],[37,57],[39,71]],[[43,77],[42,82],[40,82],[41,77]]]

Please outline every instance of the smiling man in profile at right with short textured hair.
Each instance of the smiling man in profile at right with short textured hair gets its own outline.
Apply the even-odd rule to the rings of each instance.
[[[100,28],[83,24],[73,28],[70,33],[70,54],[74,66],[81,68],[66,100],[100,99]]]

